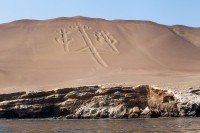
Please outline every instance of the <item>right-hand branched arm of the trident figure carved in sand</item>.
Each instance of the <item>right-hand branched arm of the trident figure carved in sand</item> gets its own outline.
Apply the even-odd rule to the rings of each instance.
[[[114,39],[114,37],[110,35],[109,32],[105,31],[95,32],[95,36],[97,38],[97,41],[99,41],[100,43],[103,43],[105,41],[115,54],[119,53],[119,50],[115,46],[117,40]]]

